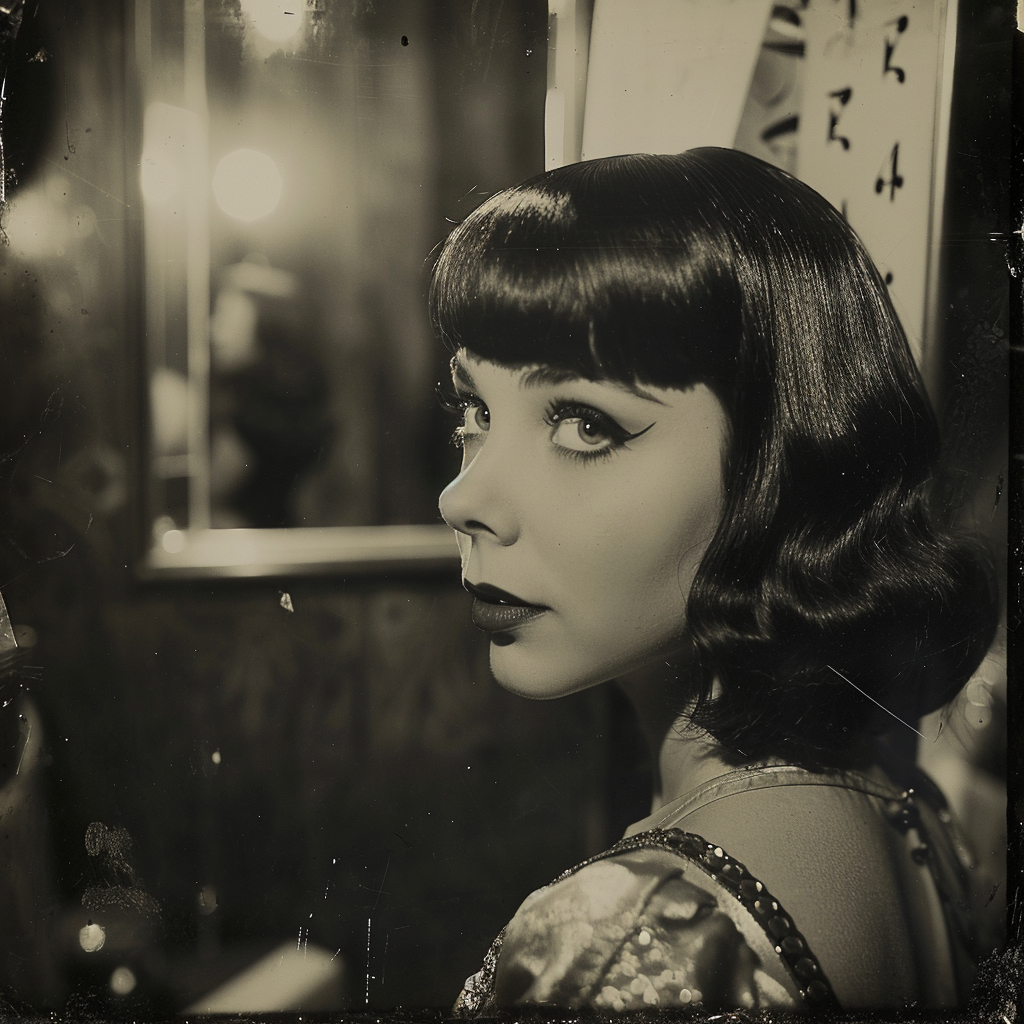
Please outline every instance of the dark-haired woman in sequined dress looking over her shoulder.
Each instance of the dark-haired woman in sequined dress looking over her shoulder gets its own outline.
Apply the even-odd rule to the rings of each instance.
[[[994,601],[933,522],[932,413],[843,218],[733,151],[578,164],[457,227],[430,302],[494,675],[618,680],[656,766],[458,1009],[961,1001],[966,855],[915,723]]]

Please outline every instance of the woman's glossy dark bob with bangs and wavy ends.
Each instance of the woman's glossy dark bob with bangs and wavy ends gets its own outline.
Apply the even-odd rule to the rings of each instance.
[[[812,188],[731,150],[562,167],[456,227],[430,309],[453,350],[722,402],[725,513],[681,696],[737,760],[856,764],[977,668],[990,573],[930,512],[938,431],[906,338]]]

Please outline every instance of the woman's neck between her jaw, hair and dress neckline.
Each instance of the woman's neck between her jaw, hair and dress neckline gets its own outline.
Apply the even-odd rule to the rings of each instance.
[[[651,811],[733,770],[722,745],[688,716],[686,694],[692,669],[658,663],[618,680],[630,698],[654,766]]]

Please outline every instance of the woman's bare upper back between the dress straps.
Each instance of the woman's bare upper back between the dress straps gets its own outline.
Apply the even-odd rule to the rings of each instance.
[[[918,997],[907,878],[878,803],[834,786],[736,794],[680,823],[742,861],[786,908],[845,1007]]]

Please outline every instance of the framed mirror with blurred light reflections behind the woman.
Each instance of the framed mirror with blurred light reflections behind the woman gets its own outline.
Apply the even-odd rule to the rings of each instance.
[[[543,169],[546,30],[544,3],[137,0],[144,572],[456,563],[430,253]]]

